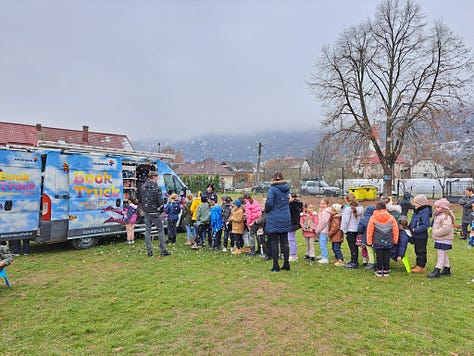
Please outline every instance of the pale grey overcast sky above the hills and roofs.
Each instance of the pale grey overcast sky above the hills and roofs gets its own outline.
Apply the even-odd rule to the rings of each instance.
[[[474,47],[473,0],[420,1]],[[376,0],[0,0],[0,121],[173,141],[315,128],[305,81]]]

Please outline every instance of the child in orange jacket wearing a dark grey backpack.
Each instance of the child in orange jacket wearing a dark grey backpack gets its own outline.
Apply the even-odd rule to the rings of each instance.
[[[377,277],[390,274],[390,252],[392,245],[398,243],[397,220],[387,211],[385,202],[379,201],[367,225],[367,244],[375,250]]]

